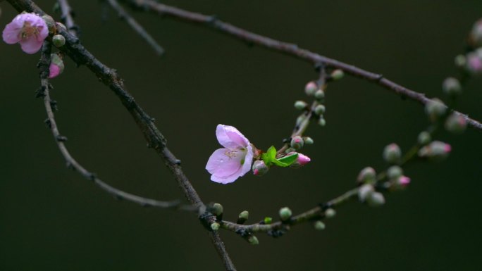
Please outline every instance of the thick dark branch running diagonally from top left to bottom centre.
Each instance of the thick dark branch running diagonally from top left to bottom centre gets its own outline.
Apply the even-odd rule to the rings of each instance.
[[[33,3],[31,0],[8,0],[8,3],[16,8],[18,12],[35,12],[39,15],[45,15],[39,6]],[[86,65],[89,70],[94,73],[101,82],[108,86],[118,98],[121,100],[123,106],[129,111],[132,118],[135,120],[137,126],[140,128],[144,138],[147,141],[148,146],[152,147],[156,153],[162,158],[166,167],[171,170],[174,179],[178,182],[180,189],[183,191],[187,201],[189,201],[198,210],[202,210],[204,203],[197,194],[197,191],[192,187],[191,182],[187,179],[180,166],[180,160],[175,158],[173,153],[166,146],[166,138],[159,132],[156,125],[154,125],[154,120],[144,112],[139,104],[135,101],[134,97],[123,86],[123,80],[116,73],[116,70],[107,67],[101,63],[97,58],[95,58],[92,53],[87,51],[82,44],[79,43],[79,39],[74,37],[64,30],[58,30],[59,34],[62,34],[66,38],[66,44],[60,49],[66,53],[70,58],[72,58],[78,65]],[[203,217],[202,222],[208,220],[214,220],[216,217],[214,215],[206,215]],[[224,246],[221,237],[217,232],[209,232],[209,237],[211,238],[218,255],[223,260],[226,270],[236,270],[235,265],[230,260],[228,251]]]

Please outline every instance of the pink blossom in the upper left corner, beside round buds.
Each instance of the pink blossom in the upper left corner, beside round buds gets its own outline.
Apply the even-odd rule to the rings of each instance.
[[[45,21],[35,13],[16,15],[12,22],[6,25],[2,37],[7,44],[20,46],[25,53],[37,53],[44,39],[49,35]]]

